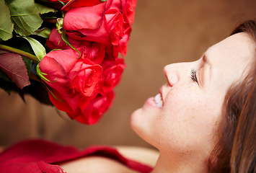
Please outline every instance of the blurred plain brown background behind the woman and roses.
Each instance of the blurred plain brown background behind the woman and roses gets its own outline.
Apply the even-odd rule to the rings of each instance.
[[[195,61],[227,37],[243,19],[256,19],[255,0],[138,0],[125,56],[127,68],[115,88],[115,101],[99,123],[82,125],[55,107],[26,102],[0,91],[0,146],[27,138],[64,145],[145,146],[130,128],[133,110],[159,92],[168,63]]]

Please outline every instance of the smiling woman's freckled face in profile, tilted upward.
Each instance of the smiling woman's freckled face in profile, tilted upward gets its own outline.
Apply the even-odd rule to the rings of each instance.
[[[227,37],[198,60],[164,67],[167,84],[133,112],[131,126],[141,138],[171,156],[207,158],[229,86],[242,79],[255,55],[245,33]],[[159,95],[158,94],[158,95]]]

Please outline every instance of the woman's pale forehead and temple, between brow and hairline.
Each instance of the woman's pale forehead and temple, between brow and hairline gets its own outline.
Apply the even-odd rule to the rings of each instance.
[[[206,51],[211,65],[211,84],[220,91],[247,74],[250,63],[255,59],[255,43],[244,32],[227,37]]]

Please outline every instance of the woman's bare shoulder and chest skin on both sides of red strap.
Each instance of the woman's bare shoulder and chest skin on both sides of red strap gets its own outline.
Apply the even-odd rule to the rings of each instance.
[[[117,150],[128,159],[138,161],[154,167],[159,156],[158,151],[151,148],[116,146]],[[102,156],[87,156],[74,161],[68,161],[60,165],[65,172],[69,173],[97,173],[97,172],[118,172],[118,173],[136,173],[136,171],[125,167],[114,159]]]

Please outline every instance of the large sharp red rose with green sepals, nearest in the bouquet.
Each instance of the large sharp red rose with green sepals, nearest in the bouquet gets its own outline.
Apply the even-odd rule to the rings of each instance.
[[[84,116],[87,105],[99,93],[102,77],[102,67],[84,58],[83,49],[78,50],[81,56],[73,49],[51,51],[38,66],[50,101],[72,119]]]

